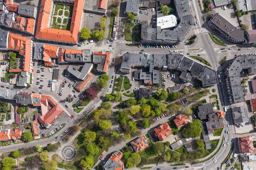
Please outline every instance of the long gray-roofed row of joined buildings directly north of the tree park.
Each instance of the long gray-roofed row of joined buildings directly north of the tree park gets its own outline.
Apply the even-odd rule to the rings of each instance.
[[[194,79],[198,79],[203,86],[217,83],[214,70],[179,54],[124,54],[122,56],[121,72],[130,73],[131,68],[134,67],[144,68],[145,73],[140,72],[140,79],[144,81],[144,84],[148,85],[160,82],[160,75],[158,76],[160,73],[159,71],[154,71],[154,68],[180,71],[179,78],[185,82],[192,83]]]

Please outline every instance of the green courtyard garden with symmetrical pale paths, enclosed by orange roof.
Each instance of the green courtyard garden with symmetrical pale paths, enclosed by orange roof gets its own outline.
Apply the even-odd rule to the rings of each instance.
[[[51,28],[70,30],[73,6],[67,4],[54,4]]]

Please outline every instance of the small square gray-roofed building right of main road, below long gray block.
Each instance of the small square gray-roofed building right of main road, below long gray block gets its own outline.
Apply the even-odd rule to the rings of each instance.
[[[232,117],[235,124],[248,122],[248,113],[245,106],[237,106],[234,108],[231,108]]]

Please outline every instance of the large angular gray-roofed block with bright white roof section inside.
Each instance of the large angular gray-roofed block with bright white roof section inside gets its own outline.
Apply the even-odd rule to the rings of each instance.
[[[160,14],[159,12],[157,13],[156,28],[152,27],[152,25],[148,25],[148,20],[142,21],[141,42],[169,45],[179,44],[184,39],[195,21],[191,15],[188,0],[174,0],[174,4],[176,5],[175,11],[178,11],[176,17],[174,15],[169,15],[163,18],[164,20],[168,19],[169,22],[163,22],[163,14]],[[177,20],[179,23],[177,23]]]

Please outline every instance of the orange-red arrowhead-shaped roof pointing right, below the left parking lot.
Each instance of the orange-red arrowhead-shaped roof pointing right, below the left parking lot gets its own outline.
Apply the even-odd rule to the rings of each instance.
[[[52,105],[52,109],[48,112],[42,109],[42,116],[39,117],[39,121],[42,124],[48,123],[49,125],[55,121],[64,111],[50,96],[41,95],[41,108],[49,107],[48,102]]]

